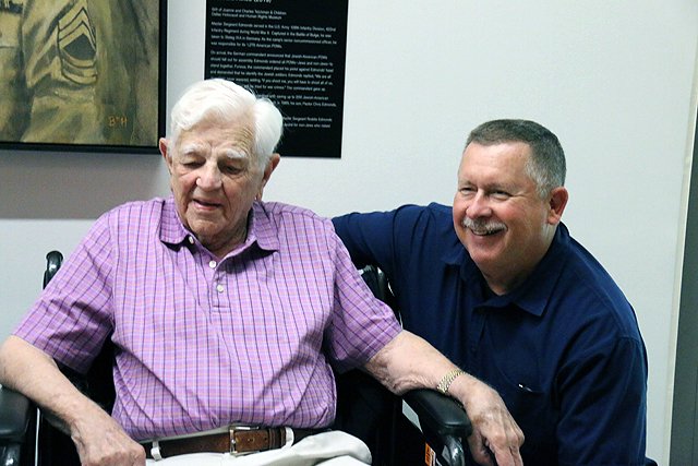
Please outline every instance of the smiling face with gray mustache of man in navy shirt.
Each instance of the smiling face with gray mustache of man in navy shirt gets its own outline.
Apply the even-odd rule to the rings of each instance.
[[[526,174],[529,157],[530,147],[521,142],[471,143],[458,169],[454,227],[498,294],[532,272],[559,220],[551,200],[538,195],[535,182]]]

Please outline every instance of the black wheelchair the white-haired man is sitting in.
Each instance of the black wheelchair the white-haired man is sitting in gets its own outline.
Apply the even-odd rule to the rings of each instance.
[[[47,254],[44,287],[58,272],[63,256]],[[395,310],[394,298],[382,271],[362,270],[374,295]],[[399,312],[396,311],[399,318]],[[113,348],[107,342],[86,374],[62,368],[65,375],[105,410],[111,411]],[[334,429],[363,440],[376,466],[453,465],[466,462],[466,439],[472,428],[462,407],[432,390],[414,390],[401,397],[392,394],[360,370],[336,374],[337,417]],[[53,428],[23,395],[0,386],[0,465],[80,465],[71,439]]]

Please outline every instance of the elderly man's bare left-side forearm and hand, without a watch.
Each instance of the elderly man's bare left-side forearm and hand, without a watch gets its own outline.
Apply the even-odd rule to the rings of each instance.
[[[44,408],[70,434],[83,465],[144,465],[145,451],[61,373],[46,353],[10,336],[0,348],[0,383]]]

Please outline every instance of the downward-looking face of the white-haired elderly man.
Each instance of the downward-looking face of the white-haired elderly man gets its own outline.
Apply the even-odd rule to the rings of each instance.
[[[176,147],[160,140],[177,211],[210,252],[224,256],[246,238],[248,214],[278,163],[260,167],[246,122],[201,122],[182,131]]]

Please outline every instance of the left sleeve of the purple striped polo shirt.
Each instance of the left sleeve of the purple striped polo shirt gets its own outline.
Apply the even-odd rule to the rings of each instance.
[[[92,227],[20,322],[14,335],[85,372],[111,331],[108,214]]]

